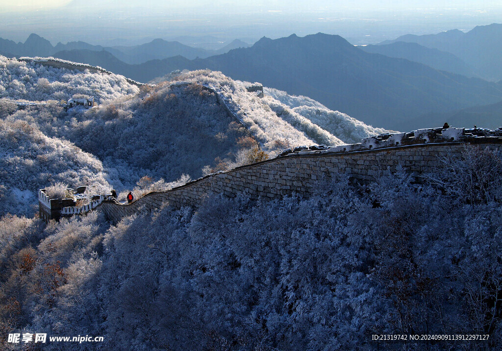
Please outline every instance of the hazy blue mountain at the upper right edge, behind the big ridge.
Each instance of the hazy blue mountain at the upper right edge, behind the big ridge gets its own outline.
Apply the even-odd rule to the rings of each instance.
[[[396,40],[382,42],[381,45],[396,42],[417,43],[427,48],[449,52],[473,67],[481,78],[498,81],[502,79],[502,24],[477,26],[464,33],[451,30],[430,35],[404,35]]]

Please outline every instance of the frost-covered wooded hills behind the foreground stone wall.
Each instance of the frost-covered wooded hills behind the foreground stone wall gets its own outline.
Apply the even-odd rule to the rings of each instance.
[[[274,90],[275,95],[260,99],[246,91],[250,83],[220,72],[185,72],[169,78],[137,87],[119,75],[0,57],[0,153],[5,154],[0,160],[5,175],[0,209],[32,215],[36,191],[57,182],[113,188],[121,195],[133,190],[138,197],[274,157],[288,147],[350,143],[384,131],[305,97]],[[180,81],[194,84],[179,85]],[[218,91],[235,116],[202,85]],[[94,96],[98,106],[66,110],[61,101],[72,96]],[[281,99],[340,118],[328,125],[295,112]],[[18,109],[19,101],[45,104]],[[137,186],[144,177],[150,184]]]

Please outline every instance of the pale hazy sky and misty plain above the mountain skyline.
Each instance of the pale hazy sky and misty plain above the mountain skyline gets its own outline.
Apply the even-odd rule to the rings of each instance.
[[[500,0],[0,0],[0,37],[24,42],[37,33],[53,44],[122,45],[120,39],[129,45],[180,36],[253,43],[318,32],[374,44],[494,22],[502,22]]]

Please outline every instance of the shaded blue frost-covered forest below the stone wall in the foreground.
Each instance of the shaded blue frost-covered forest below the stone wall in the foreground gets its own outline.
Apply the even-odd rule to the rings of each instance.
[[[215,196],[117,226],[98,213],[45,228],[4,218],[1,327],[78,330],[117,350],[496,349],[502,160],[468,148],[445,165],[456,177],[445,167],[422,185],[404,171],[367,187],[324,180],[309,199]]]

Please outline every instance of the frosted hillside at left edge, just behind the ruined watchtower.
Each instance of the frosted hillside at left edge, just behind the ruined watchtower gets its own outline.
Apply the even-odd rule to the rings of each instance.
[[[38,209],[37,191],[54,183],[110,189],[95,156],[44,135],[23,117],[21,112],[0,119],[0,214],[32,213]]]

